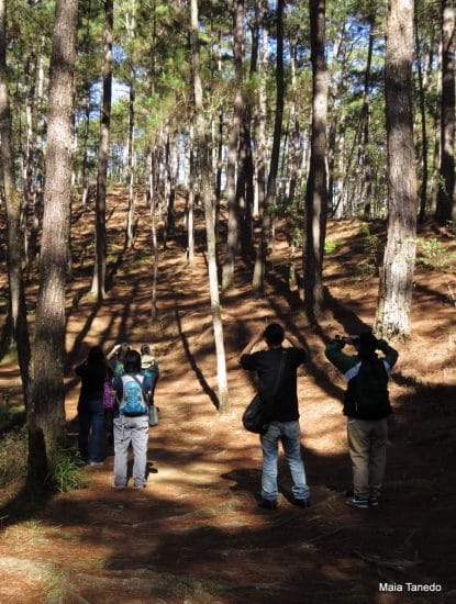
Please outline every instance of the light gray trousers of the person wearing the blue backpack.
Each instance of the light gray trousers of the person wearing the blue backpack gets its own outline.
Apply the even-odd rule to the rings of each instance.
[[[133,482],[137,489],[144,486],[147,462],[148,418],[114,417],[114,486],[126,485],[126,465],[130,444],[133,447]]]

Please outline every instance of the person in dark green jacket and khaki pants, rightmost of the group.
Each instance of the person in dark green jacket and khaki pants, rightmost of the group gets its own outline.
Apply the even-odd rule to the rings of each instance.
[[[355,347],[356,355],[342,351],[347,344]],[[379,358],[376,350],[383,356]],[[388,379],[398,353],[385,339],[364,332],[359,336],[336,336],[327,343],[325,356],[347,382],[343,413],[347,416],[353,496],[345,503],[367,510],[378,505],[381,494],[387,460],[387,417],[392,413]]]

